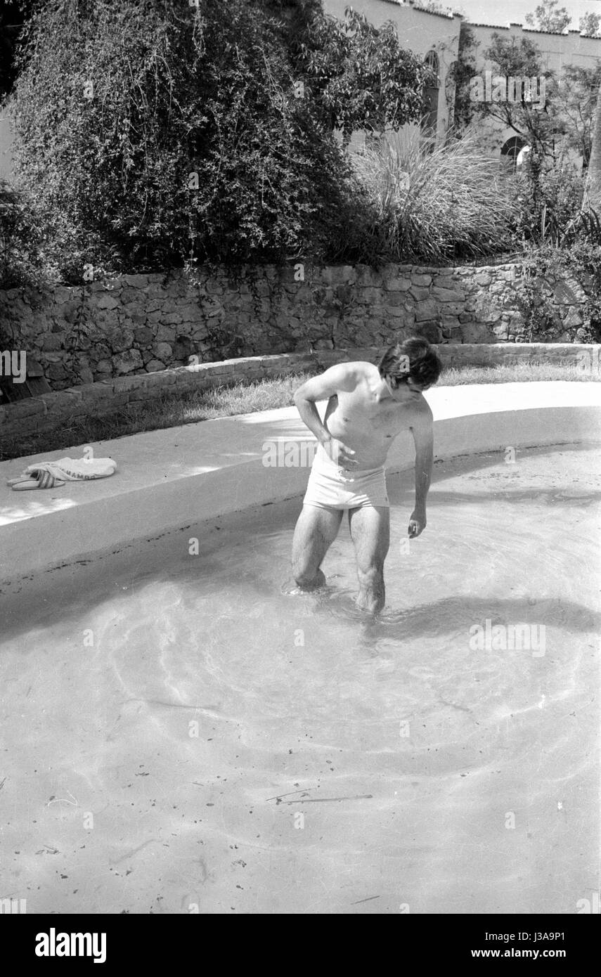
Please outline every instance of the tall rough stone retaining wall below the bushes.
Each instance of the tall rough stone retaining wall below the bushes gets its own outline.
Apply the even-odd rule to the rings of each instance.
[[[516,265],[259,267],[233,276],[125,275],[41,293],[0,292],[0,352],[22,350],[53,390],[189,362],[389,344],[525,342]],[[191,280],[191,277],[193,280]],[[553,291],[549,339],[581,341],[579,296]]]

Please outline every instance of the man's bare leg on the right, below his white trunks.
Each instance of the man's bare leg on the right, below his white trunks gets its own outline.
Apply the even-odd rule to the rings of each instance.
[[[349,528],[357,557],[357,603],[362,610],[377,614],[386,600],[384,560],[390,543],[390,509],[386,505],[351,509]]]

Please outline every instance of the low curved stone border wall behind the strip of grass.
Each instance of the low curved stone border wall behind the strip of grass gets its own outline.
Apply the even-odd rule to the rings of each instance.
[[[307,370],[319,373],[334,362],[375,362],[379,349],[319,350],[314,353],[248,357],[237,360],[182,366],[175,369],[114,377],[98,383],[32,397],[0,406],[0,445],[5,439],[25,437],[42,431],[68,427],[85,417],[99,417],[127,404],[142,404],[163,393],[230,384],[236,380],[259,380]],[[578,365],[601,378],[601,345],[503,343],[440,346],[441,359],[448,366],[490,365],[544,361]]]

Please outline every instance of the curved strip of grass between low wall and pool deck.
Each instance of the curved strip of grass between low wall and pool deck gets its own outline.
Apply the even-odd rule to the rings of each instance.
[[[57,431],[40,432],[24,438],[6,439],[0,446],[0,460],[19,458],[73,445],[110,441],[143,431],[158,431],[180,424],[195,424],[211,417],[231,417],[293,404],[294,391],[313,374],[295,373],[254,383],[160,394],[152,401],[127,404],[102,417],[87,417],[64,423]],[[444,370],[439,386],[456,387],[475,383],[514,383],[540,380],[591,381],[597,377],[577,366],[545,362],[498,366],[463,366]]]

